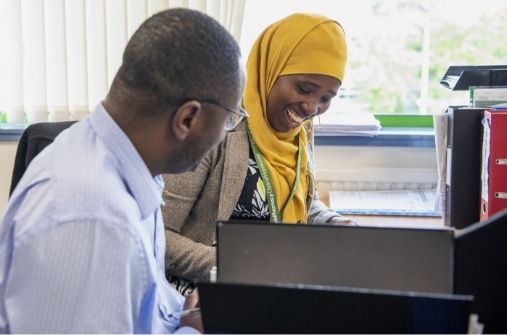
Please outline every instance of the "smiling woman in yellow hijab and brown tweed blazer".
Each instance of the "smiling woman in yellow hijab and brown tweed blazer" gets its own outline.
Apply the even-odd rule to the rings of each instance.
[[[208,280],[217,221],[353,224],[318,200],[313,177],[312,118],[338,94],[346,60],[341,26],[320,15],[290,15],[258,37],[247,60],[247,122],[195,171],[164,176],[166,275],[180,292]]]

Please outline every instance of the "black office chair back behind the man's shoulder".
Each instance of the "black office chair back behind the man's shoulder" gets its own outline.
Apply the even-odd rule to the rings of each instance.
[[[44,150],[44,148],[53,143],[53,140],[60,132],[67,129],[75,122],[77,121],[39,122],[26,127],[19,139],[16,156],[14,157],[14,168],[12,170],[9,197],[12,195],[12,192],[14,192],[16,185],[25,173],[32,159]]]

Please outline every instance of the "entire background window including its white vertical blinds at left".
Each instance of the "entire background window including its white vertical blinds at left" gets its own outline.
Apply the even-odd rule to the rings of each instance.
[[[507,63],[504,0],[0,0],[3,120],[86,116],[105,96],[132,31],[175,6],[212,14],[244,55],[291,13],[337,19],[349,62],[331,111],[372,112],[383,126],[431,125],[432,114],[465,105],[468,92],[440,85],[449,66]]]

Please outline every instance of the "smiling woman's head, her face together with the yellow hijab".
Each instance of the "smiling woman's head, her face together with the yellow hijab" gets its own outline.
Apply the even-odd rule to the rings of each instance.
[[[244,106],[251,114],[252,142],[259,149],[255,159],[268,170],[262,179],[264,183],[271,179],[276,194],[278,213],[275,206],[269,207],[272,221],[307,222],[306,201],[313,190],[309,189],[312,176],[306,151],[307,135],[311,134],[306,134],[304,125],[311,131],[311,118],[329,108],[341,86],[346,61],[343,29],[320,15],[293,14],[278,21],[252,48]],[[293,78],[287,79],[290,76]],[[270,105],[271,99],[277,99],[271,94],[273,87],[290,80],[287,85],[295,92],[290,93],[286,105]]]

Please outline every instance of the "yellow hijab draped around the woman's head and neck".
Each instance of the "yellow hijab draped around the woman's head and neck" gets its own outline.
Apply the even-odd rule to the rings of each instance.
[[[293,14],[266,28],[248,56],[243,104],[248,125],[264,157],[282,221],[307,222],[307,136],[301,124],[289,132],[276,132],[266,117],[269,92],[277,78],[288,74],[323,74],[343,81],[347,61],[345,34],[338,22],[315,14]],[[308,121],[311,122],[311,121]],[[301,143],[300,181],[295,184],[298,146]]]

